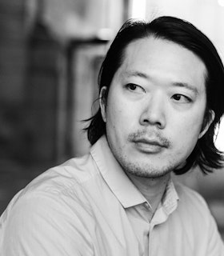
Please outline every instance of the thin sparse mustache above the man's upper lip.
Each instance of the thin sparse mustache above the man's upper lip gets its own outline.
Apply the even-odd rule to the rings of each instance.
[[[156,130],[137,130],[136,132],[129,134],[127,139],[129,142],[135,142],[141,140],[142,138],[148,139],[149,141],[157,141],[164,147],[170,147],[171,145],[170,140],[162,136],[162,134]]]

